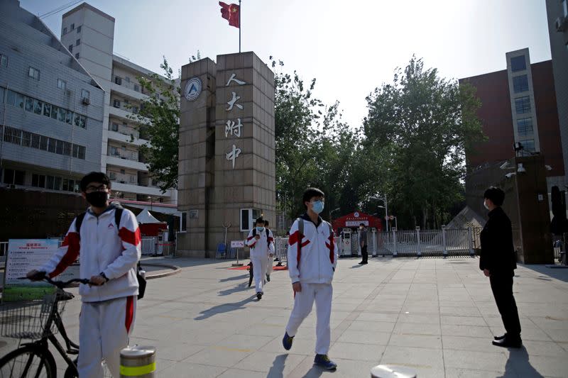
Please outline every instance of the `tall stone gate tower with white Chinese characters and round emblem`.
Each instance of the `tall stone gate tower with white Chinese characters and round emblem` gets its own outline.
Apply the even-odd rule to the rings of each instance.
[[[178,255],[214,257],[258,216],[275,224],[274,73],[253,52],[182,67]]]

